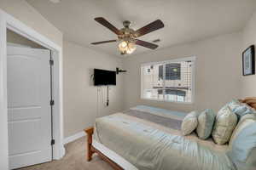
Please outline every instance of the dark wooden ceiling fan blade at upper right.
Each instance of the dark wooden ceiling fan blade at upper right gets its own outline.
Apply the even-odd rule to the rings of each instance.
[[[135,31],[136,37],[141,37],[145,34],[148,34],[149,32],[156,31],[160,28],[163,28],[165,25],[161,20],[154,20],[154,22],[151,22],[147,26],[143,26],[142,28]]]

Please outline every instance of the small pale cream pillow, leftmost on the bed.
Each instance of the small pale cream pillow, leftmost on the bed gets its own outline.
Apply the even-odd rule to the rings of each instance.
[[[198,124],[197,116],[198,116],[198,112],[192,111],[187,116],[184,117],[182,127],[181,127],[183,135],[188,135],[195,130]]]

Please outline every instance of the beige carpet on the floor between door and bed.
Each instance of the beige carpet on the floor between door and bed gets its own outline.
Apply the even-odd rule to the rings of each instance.
[[[60,161],[51,161],[31,167],[23,167],[20,170],[113,170],[105,161],[96,154],[92,161],[85,159],[85,138],[78,139],[65,145],[66,156]]]

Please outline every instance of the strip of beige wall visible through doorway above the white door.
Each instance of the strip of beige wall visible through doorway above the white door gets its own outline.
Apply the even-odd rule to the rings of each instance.
[[[28,46],[31,48],[44,48],[38,43],[32,42],[29,39],[26,39],[26,37],[22,37],[19,34],[16,34],[14,31],[10,31],[10,30],[7,30],[6,39],[7,39],[7,42],[20,44],[20,45]]]

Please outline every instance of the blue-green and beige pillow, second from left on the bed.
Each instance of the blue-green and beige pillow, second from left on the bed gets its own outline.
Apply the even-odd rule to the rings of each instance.
[[[207,109],[198,116],[196,133],[200,139],[207,139],[212,133],[215,114],[211,109]]]

